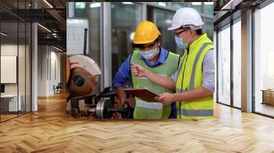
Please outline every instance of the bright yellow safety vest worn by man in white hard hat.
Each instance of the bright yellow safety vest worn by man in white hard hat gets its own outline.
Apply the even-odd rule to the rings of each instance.
[[[206,33],[190,44],[189,52],[184,53],[177,71],[176,93],[201,87],[203,58],[213,46]],[[213,118],[213,96],[192,101],[177,101],[176,107],[177,119]]]

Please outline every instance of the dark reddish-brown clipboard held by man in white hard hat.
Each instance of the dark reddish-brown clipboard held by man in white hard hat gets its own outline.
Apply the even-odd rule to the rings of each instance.
[[[145,100],[146,102],[156,102],[154,100],[155,96],[159,96],[158,94],[155,94],[154,92],[151,92],[149,89],[123,89],[123,91],[127,94],[132,94],[132,96],[136,96],[142,100]]]

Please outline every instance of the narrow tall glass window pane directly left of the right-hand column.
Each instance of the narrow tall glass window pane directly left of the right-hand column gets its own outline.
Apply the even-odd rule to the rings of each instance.
[[[233,25],[233,105],[241,107],[241,24],[240,21]]]

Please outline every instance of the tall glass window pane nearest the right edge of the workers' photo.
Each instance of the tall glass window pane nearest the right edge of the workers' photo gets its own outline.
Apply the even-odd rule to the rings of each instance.
[[[218,33],[218,102],[230,105],[230,25]]]

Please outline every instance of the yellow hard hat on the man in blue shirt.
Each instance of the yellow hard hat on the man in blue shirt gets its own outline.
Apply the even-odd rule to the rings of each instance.
[[[135,31],[133,43],[134,44],[149,44],[160,36],[160,31],[154,23],[144,21],[140,23]]]

